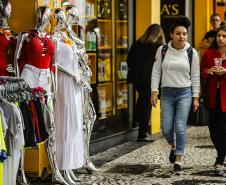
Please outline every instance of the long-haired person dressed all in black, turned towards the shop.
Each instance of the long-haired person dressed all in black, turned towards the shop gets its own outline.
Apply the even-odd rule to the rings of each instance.
[[[139,124],[137,141],[149,142],[149,121],[151,115],[151,73],[158,47],[165,44],[162,27],[150,25],[145,33],[132,44],[127,57],[127,83],[132,83],[138,92],[133,121]]]

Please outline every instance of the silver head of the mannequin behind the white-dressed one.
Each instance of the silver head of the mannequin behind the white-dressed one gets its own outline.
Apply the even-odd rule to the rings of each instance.
[[[74,24],[78,24],[79,22],[79,11],[74,5],[66,5],[65,11],[68,18],[68,24],[69,26],[72,26]]]

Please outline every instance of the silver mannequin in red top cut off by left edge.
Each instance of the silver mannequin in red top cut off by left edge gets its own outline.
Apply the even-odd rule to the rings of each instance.
[[[13,53],[16,46],[16,35],[9,29],[7,19],[11,15],[11,4],[8,0],[0,1],[0,76],[11,76]]]

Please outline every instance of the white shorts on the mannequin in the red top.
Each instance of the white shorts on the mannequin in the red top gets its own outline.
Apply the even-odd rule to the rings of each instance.
[[[50,69],[39,69],[35,66],[25,64],[21,78],[23,78],[31,88],[42,87],[48,94],[50,93]]]

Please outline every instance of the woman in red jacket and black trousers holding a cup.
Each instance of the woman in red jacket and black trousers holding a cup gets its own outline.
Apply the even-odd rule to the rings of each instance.
[[[201,60],[201,78],[207,82],[210,137],[217,150],[215,173],[224,175],[226,155],[226,25],[221,26],[212,46]]]

